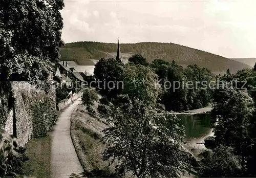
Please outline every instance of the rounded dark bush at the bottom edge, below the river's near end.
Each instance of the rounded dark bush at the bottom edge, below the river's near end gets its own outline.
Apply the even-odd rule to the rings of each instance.
[[[240,177],[241,165],[239,158],[233,154],[231,147],[219,145],[214,150],[204,153],[203,167],[199,177]]]

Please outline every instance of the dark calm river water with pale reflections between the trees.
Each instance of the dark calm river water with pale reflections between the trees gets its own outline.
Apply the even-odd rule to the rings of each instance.
[[[203,143],[208,136],[213,136],[211,117],[209,114],[177,115],[180,124],[185,127],[185,141],[190,147],[206,149]]]

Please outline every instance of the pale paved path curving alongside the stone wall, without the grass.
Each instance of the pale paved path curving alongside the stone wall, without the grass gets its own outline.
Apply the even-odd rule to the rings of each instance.
[[[71,115],[81,102],[77,99],[58,117],[51,138],[51,178],[66,178],[83,172],[70,136]]]

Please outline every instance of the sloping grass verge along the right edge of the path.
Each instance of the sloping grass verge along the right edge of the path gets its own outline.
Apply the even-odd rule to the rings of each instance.
[[[114,166],[108,167],[110,162],[103,161],[101,154],[105,149],[100,141],[104,128],[106,125],[91,117],[83,105],[71,117],[71,138],[87,177],[115,177]]]

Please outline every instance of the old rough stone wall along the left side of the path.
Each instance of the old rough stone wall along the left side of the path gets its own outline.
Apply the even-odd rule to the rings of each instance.
[[[46,93],[28,82],[12,82],[10,92],[9,104],[1,105],[10,108],[0,119],[4,121],[2,128],[15,135],[20,145],[25,145],[32,137],[45,136],[53,129],[56,122],[54,85]]]

